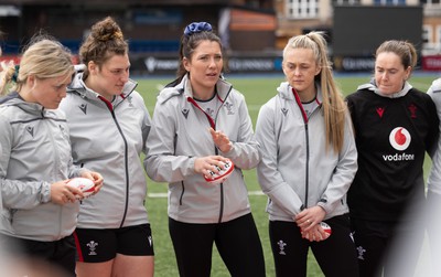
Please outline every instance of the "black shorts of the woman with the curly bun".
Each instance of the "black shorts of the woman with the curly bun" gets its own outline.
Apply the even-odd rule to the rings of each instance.
[[[103,263],[117,254],[154,256],[150,224],[122,228],[77,228],[74,236],[77,262]]]

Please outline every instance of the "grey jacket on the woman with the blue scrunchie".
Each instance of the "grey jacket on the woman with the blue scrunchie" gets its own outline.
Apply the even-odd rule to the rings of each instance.
[[[223,79],[216,89],[223,105],[212,122],[193,100],[187,76],[158,96],[144,166],[151,179],[169,182],[169,216],[175,221],[219,223],[250,213],[241,170],[257,166],[259,147],[244,96]],[[211,126],[228,136],[230,151],[216,148],[208,131]],[[194,172],[195,159],[212,155],[235,163],[235,171],[222,184],[208,184]]]

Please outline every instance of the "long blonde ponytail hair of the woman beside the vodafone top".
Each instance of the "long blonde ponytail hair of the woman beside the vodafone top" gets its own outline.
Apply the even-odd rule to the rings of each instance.
[[[283,58],[292,49],[310,49],[315,56],[315,63],[321,68],[315,81],[320,82],[323,94],[323,116],[326,132],[326,149],[332,146],[340,152],[344,143],[345,111],[342,93],[332,76],[332,64],[327,58],[326,41],[323,32],[313,31],[308,34],[293,36],[283,50]]]

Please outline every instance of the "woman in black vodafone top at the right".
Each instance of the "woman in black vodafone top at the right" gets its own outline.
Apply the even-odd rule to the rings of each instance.
[[[347,200],[361,276],[415,276],[420,256],[423,164],[437,148],[439,119],[431,97],[409,83],[417,61],[410,42],[383,42],[374,77],[347,96],[358,150]],[[429,199],[438,201],[432,189]]]

